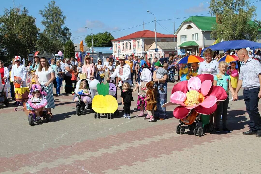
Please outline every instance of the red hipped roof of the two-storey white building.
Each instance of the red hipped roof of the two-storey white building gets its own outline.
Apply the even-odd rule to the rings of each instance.
[[[175,38],[176,37],[177,35],[175,35]],[[135,39],[135,38],[155,38],[155,32],[150,30],[137,31],[135,33],[123,36],[121,38],[114,39],[112,41],[128,40],[128,39]],[[174,38],[174,35],[157,33],[157,38]]]

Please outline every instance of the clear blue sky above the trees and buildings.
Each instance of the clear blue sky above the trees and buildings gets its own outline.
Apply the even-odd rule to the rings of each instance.
[[[257,0],[250,0],[250,3],[255,1]],[[36,18],[36,25],[42,31],[44,27],[41,25],[42,17],[39,15],[39,10],[43,10],[49,2],[46,0],[0,0],[0,15],[4,14],[4,8],[13,8],[14,5],[26,7],[28,14]],[[145,30],[154,31],[154,15],[148,13],[147,10],[155,14],[156,20],[164,20],[156,22],[156,31],[163,34],[173,34],[174,22],[176,30],[189,16],[201,14],[204,14],[201,16],[211,16],[206,14],[209,13],[210,0],[56,0],[55,2],[66,16],[65,25],[70,28],[75,44],[79,44],[86,35],[91,33],[91,30],[85,26],[91,28],[94,34],[111,32],[114,38],[143,30],[143,22],[150,22],[145,24]],[[261,20],[261,1],[251,5],[257,7],[257,19]]]

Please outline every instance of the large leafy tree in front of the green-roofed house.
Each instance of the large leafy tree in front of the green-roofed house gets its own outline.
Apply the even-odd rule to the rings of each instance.
[[[211,0],[209,12],[216,15],[212,38],[223,40],[247,39],[256,41],[261,23],[256,19],[256,7],[245,0]],[[254,17],[254,21],[251,19]]]

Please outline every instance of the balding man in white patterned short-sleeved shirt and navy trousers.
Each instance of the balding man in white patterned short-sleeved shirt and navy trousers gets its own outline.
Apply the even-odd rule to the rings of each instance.
[[[248,56],[244,48],[238,51],[239,60],[242,63],[238,85],[234,94],[234,100],[238,99],[238,91],[244,88],[243,95],[246,111],[250,118],[250,130],[243,132],[244,135],[256,135],[261,137],[261,118],[258,112],[258,100],[261,98],[261,65],[258,61]]]

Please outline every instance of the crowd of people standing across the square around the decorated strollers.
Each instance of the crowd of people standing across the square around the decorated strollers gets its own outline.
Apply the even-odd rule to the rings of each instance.
[[[253,53],[254,52],[254,53]],[[191,53],[194,55],[194,53]],[[200,56],[200,54],[197,54]],[[239,57],[235,62],[218,62],[220,58],[226,55],[236,55]],[[86,55],[81,61],[77,62],[74,58],[60,59],[55,62],[51,59],[49,64],[45,57],[34,56],[34,63],[28,61],[26,65],[21,64],[21,57],[16,56],[11,65],[4,67],[3,61],[0,60],[0,73],[2,84],[10,76],[10,88],[14,91],[15,80],[18,76],[22,79],[21,87],[26,87],[26,74],[30,71],[32,75],[31,85],[39,84],[44,86],[47,93],[46,99],[48,104],[45,108],[48,113],[55,108],[53,88],[56,89],[56,95],[61,96],[61,86],[66,94],[73,94],[76,87],[77,79],[80,74],[85,74],[89,80],[97,79],[100,83],[114,83],[118,90],[121,90],[122,104],[124,105],[124,118],[131,118],[130,106],[133,101],[132,92],[137,90],[137,109],[140,113],[136,117],[144,117],[152,122],[154,119],[164,120],[166,118],[166,108],[162,107],[167,102],[167,82],[177,80],[189,80],[199,74],[211,74],[214,76],[213,85],[222,86],[229,96],[219,102],[217,111],[210,116],[210,122],[215,123],[215,130],[220,132],[220,119],[222,117],[222,130],[231,132],[227,128],[227,109],[228,103],[237,100],[237,93],[241,87],[244,88],[244,100],[247,112],[250,116],[250,130],[243,134],[255,134],[261,136],[261,119],[258,112],[258,99],[261,98],[261,65],[260,49],[247,51],[246,49],[227,51],[224,55],[217,54],[211,49],[204,52],[204,62],[191,64],[174,64],[185,55],[170,54],[169,59],[157,57],[151,63],[145,61],[144,57],[120,55],[115,61],[113,58],[106,57],[106,61],[101,59],[98,63],[93,62],[93,57]],[[10,71],[10,74],[9,74]],[[134,87],[134,89],[131,89]],[[8,94],[7,94],[8,95]],[[14,100],[14,93],[11,92]],[[15,103],[16,104],[16,103]],[[147,111],[147,115],[145,114]]]

